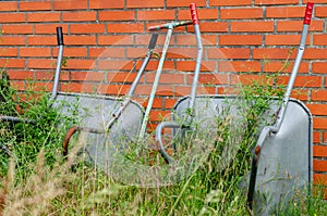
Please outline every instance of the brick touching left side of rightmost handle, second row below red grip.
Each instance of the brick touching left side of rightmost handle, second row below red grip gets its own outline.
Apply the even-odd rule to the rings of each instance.
[[[295,53],[293,52],[290,55],[291,49],[284,49],[284,48],[258,48],[253,49],[253,59],[263,59],[263,60],[286,60],[288,58],[294,59]]]

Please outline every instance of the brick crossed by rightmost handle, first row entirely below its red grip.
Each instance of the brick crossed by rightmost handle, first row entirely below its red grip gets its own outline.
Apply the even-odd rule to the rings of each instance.
[[[266,35],[266,45],[267,46],[296,46],[300,43],[301,35]],[[310,45],[308,36],[306,38],[306,45]]]

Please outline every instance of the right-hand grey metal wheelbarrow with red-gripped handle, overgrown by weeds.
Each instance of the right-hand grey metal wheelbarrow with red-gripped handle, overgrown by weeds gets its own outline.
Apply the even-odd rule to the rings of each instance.
[[[272,120],[275,124],[262,126],[259,130],[262,132],[253,151],[247,205],[256,214],[270,215],[276,208],[287,207],[288,202],[294,198],[294,191],[310,192],[311,190],[313,175],[312,115],[302,102],[290,99],[290,94],[304,52],[312,11],[313,3],[308,2],[298,55],[281,105],[277,99],[271,101],[268,113],[277,114],[277,117],[274,119],[268,113],[265,115],[267,120]],[[173,107],[174,120],[164,122],[156,129],[156,140],[160,144],[161,155],[168,163],[175,163],[175,160],[167,153],[164,144],[162,130],[165,128],[173,128],[172,137],[181,130],[217,128],[214,119],[221,116],[225,110],[229,110],[229,115],[233,116],[235,127],[244,126],[242,117],[238,116],[240,106],[235,105],[237,101],[238,97],[233,96],[189,96],[180,99]],[[190,103],[194,105],[190,107]],[[192,109],[192,115],[190,115],[190,109]],[[185,116],[192,118],[186,120],[187,124],[181,123]],[[238,125],[238,123],[241,124]],[[194,126],[194,124],[197,125]],[[231,130],[240,132],[240,128]],[[207,132],[207,136],[209,139],[214,137],[210,132]]]

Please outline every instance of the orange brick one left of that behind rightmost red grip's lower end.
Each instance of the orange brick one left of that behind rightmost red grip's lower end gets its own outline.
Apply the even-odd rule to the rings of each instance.
[[[231,31],[235,33],[267,33],[274,31],[274,22],[231,22]]]

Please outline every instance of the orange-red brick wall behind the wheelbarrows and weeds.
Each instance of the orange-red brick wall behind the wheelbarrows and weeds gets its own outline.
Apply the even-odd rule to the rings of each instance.
[[[315,181],[319,181],[327,177],[327,0],[313,1],[313,22],[293,96],[314,115],[314,169]],[[133,60],[146,51],[147,27],[190,20],[191,2],[197,3],[205,45],[199,89],[202,93],[221,93],[240,80],[261,77],[258,72],[274,73],[282,66],[291,48],[299,43],[307,0],[1,1],[0,66],[19,89],[26,89],[26,79],[50,89],[58,52],[56,26],[62,26],[69,59],[61,90],[92,91],[100,81],[104,93],[125,93],[129,86],[123,84],[135,77],[129,75]],[[164,39],[165,30],[158,52]],[[190,92],[194,43],[192,27],[175,29],[153,120],[169,113],[161,107],[171,109],[179,96]],[[291,63],[294,56],[295,51]],[[155,71],[157,64],[152,61],[148,69]],[[172,69],[174,75],[169,73]],[[147,73],[136,94],[148,94],[153,79],[154,73]]]

